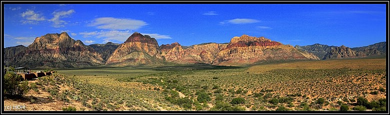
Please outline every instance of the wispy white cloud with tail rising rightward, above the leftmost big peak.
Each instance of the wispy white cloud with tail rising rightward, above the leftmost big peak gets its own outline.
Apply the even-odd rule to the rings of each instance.
[[[74,12],[73,9],[67,10],[67,11],[59,11],[56,12],[54,11],[53,13],[53,18],[49,19],[49,21],[54,22],[53,27],[64,27],[66,22],[64,20],[60,20],[60,18],[67,17],[68,15],[72,14]]]

